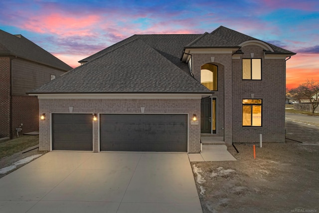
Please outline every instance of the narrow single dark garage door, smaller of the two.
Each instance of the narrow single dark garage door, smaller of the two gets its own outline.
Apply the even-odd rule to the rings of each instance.
[[[92,114],[52,114],[53,150],[93,150]]]

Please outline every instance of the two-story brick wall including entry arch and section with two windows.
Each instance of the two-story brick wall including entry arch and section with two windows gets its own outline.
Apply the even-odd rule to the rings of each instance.
[[[285,141],[286,62],[265,59],[263,50],[258,45],[243,46],[240,59],[232,59],[231,54],[192,54],[193,74],[199,82],[202,65],[218,66],[218,91],[212,95],[217,98],[216,136],[224,136],[227,144],[259,142],[259,134],[265,142]],[[262,80],[242,80],[242,58],[251,58],[251,53],[262,59]],[[242,99],[252,97],[263,99],[262,127],[242,126]]]

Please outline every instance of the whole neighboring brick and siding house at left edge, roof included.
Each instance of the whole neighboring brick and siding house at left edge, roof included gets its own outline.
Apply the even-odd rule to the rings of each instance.
[[[26,92],[72,69],[22,35],[0,30],[0,138],[39,129],[36,96]]]

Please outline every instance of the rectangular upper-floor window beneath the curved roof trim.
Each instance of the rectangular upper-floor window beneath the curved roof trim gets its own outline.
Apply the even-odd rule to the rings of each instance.
[[[261,58],[243,58],[243,80],[261,80]]]

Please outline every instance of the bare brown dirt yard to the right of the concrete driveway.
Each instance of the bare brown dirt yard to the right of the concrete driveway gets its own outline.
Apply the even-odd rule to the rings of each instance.
[[[237,161],[194,162],[204,213],[319,212],[319,146],[236,144]]]

